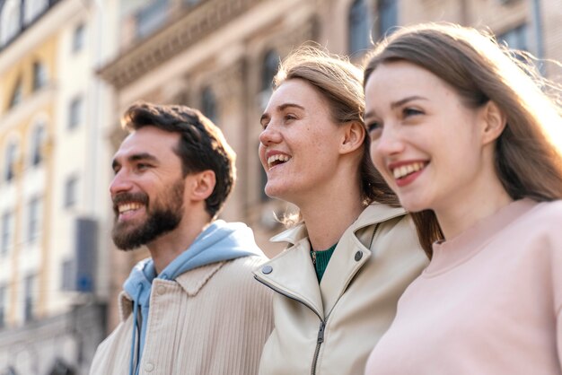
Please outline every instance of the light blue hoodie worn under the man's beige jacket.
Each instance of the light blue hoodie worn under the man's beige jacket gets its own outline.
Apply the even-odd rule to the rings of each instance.
[[[138,373],[138,365],[145,347],[146,323],[150,304],[150,292],[154,278],[175,280],[179,275],[198,266],[205,266],[223,260],[237,257],[259,255],[265,257],[256,245],[251,229],[242,222],[224,222],[216,220],[202,231],[193,241],[189,249],[185,250],[156,275],[154,261],[147,258],[140,261],[128,276],[123,288],[133,299],[133,338],[131,342],[131,362],[129,374]],[[138,327],[138,308],[141,309],[142,323]],[[136,336],[139,344],[136,346]],[[136,365],[135,365],[135,358]]]

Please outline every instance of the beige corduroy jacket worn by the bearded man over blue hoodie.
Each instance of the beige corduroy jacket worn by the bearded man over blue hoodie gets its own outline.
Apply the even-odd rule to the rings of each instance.
[[[139,375],[251,375],[273,327],[273,293],[253,280],[263,257],[201,266],[175,281],[154,279]],[[121,323],[100,344],[91,375],[127,375],[131,299],[119,296]]]

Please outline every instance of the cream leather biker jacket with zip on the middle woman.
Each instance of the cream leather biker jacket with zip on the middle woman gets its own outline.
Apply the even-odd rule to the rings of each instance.
[[[339,240],[320,285],[303,224],[272,241],[292,246],[254,270],[277,292],[259,374],[363,374],[400,295],[428,263],[409,216],[389,205],[366,207]]]

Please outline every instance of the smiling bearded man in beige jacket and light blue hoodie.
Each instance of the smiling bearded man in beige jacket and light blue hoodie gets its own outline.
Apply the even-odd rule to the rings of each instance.
[[[265,256],[241,222],[216,220],[235,154],[196,109],[138,103],[113,158],[119,249],[143,245],[119,296],[121,323],[100,344],[92,375],[249,375],[272,329],[272,293],[253,281]]]

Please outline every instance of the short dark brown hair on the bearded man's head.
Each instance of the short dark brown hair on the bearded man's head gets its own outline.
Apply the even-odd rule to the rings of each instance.
[[[236,153],[224,139],[223,132],[197,109],[180,105],[157,105],[138,102],[121,119],[129,132],[144,126],[179,133],[180,141],[173,150],[181,160],[183,177],[203,170],[215,172],[216,185],[206,198],[206,212],[215,218],[233,190],[236,179]]]

